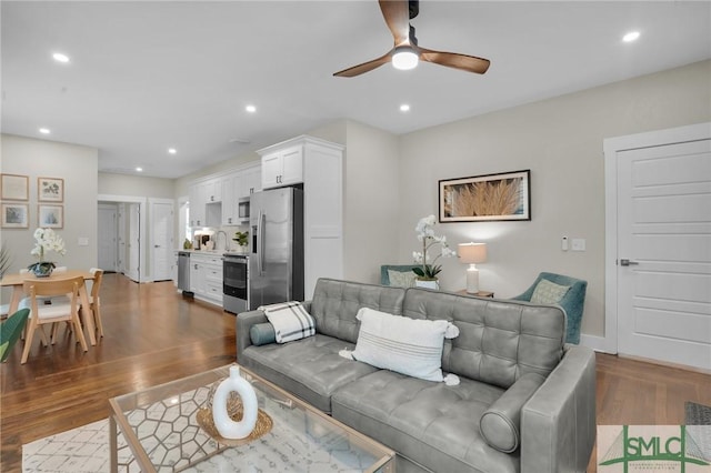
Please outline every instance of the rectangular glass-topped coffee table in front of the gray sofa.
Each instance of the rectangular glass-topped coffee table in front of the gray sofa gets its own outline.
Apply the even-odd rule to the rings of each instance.
[[[112,472],[383,472],[395,453],[240,368],[272,419],[263,436],[239,446],[213,440],[198,423],[229,365],[109,400]]]

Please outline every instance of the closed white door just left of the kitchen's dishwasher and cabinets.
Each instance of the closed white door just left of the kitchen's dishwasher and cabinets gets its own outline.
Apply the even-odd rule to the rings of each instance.
[[[173,204],[151,202],[151,253],[153,281],[172,279]]]

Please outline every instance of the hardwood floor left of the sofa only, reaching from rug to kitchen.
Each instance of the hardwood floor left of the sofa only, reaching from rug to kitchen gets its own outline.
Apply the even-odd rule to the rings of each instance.
[[[34,340],[26,364],[22,342],[2,364],[1,472],[21,471],[22,444],[106,419],[109,397],[236,360],[234,315],[183,299],[172,282],[107,274],[101,309],[104,336],[87,353],[62,328],[56,345]]]

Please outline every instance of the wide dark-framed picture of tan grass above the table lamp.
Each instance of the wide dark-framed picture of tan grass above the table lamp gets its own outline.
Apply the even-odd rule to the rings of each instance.
[[[531,171],[440,181],[440,222],[531,220]]]

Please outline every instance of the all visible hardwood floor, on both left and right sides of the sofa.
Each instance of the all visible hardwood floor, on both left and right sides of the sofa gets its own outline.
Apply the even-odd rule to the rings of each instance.
[[[234,315],[183,299],[172,282],[104,275],[104,338],[83,353],[22,343],[0,368],[0,472],[20,472],[22,444],[104,419],[108,399],[234,361]],[[711,376],[598,354],[598,424],[680,424],[684,402],[711,405]],[[594,472],[593,452],[590,472]]]

